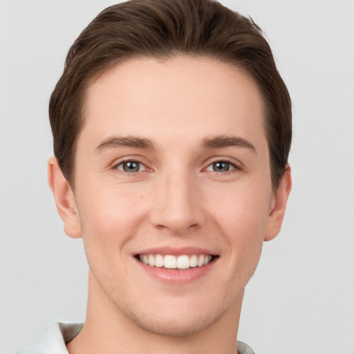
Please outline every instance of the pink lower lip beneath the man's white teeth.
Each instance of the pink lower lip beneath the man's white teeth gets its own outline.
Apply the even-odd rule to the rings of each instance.
[[[187,269],[166,269],[163,267],[152,267],[151,265],[147,265],[142,263],[136,259],[139,263],[140,267],[142,267],[145,272],[147,272],[151,277],[154,277],[164,283],[189,283],[190,281],[194,281],[203,277],[207,272],[209,272],[217,259],[213,259],[207,265],[203,265],[203,267],[195,267],[195,268],[187,268]]]

